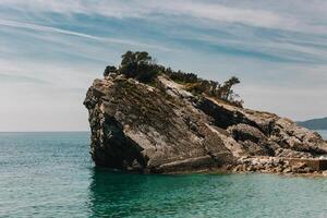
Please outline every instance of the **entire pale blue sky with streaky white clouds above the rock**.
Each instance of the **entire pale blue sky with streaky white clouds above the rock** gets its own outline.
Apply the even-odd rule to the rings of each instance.
[[[0,0],[0,131],[87,131],[83,100],[126,50],[235,87],[245,107],[327,116],[325,0]]]

